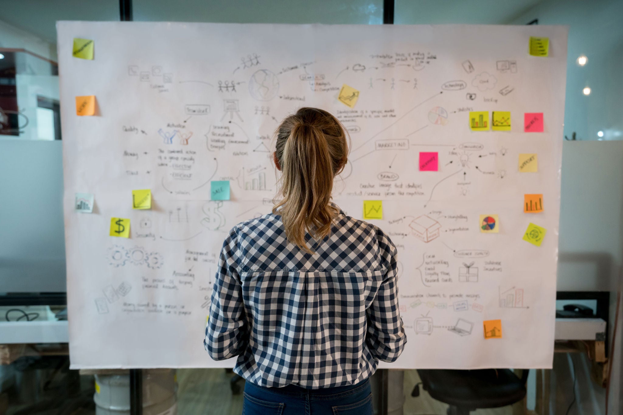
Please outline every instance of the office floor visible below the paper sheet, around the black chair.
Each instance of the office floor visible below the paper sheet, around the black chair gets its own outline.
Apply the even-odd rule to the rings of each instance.
[[[178,370],[179,415],[240,415],[242,393],[232,395],[229,387],[231,373],[224,369]],[[447,405],[435,401],[423,390],[418,398],[411,397],[413,386],[419,382],[417,371],[404,373],[404,415],[445,415]],[[243,385],[240,383],[240,385]],[[478,409],[473,415],[511,415],[510,407]]]

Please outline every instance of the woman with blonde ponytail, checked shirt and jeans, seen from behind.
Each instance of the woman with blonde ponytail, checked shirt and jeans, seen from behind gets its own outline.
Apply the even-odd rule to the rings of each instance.
[[[396,248],[330,202],[347,155],[330,113],[285,118],[274,154],[282,198],[223,245],[204,346],[215,360],[238,357],[245,415],[372,414],[368,378],[406,343]]]

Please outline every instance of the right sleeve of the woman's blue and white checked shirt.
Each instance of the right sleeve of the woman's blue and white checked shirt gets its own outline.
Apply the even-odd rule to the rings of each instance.
[[[366,343],[375,358],[391,362],[401,355],[407,337],[398,309],[396,246],[380,229],[377,228],[376,233],[385,276],[374,301],[366,310],[368,313]]]

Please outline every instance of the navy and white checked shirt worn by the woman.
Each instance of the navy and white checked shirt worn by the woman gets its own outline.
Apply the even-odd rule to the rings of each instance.
[[[215,360],[238,356],[235,373],[255,385],[353,385],[407,341],[396,247],[382,230],[340,210],[310,247],[288,243],[272,213],[234,226],[223,244],[204,347]]]

